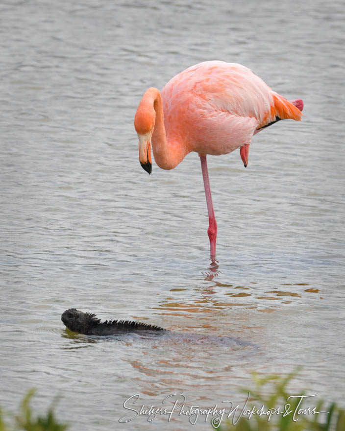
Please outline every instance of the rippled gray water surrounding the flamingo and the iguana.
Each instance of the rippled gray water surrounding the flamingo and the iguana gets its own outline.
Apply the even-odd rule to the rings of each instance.
[[[344,18],[337,0],[1,1],[2,407],[36,387],[74,431],[187,430],[121,425],[123,402],[243,404],[252,371],[296,365],[291,393],[344,407]],[[305,103],[254,137],[248,168],[208,157],[218,267],[197,154],[149,176],[133,127],[148,87],[211,59]],[[177,336],[73,335],[71,307]]]

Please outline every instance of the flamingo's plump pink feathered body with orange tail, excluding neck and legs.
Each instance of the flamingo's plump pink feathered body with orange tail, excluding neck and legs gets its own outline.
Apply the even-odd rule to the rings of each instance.
[[[191,151],[205,154],[229,153],[250,144],[256,129],[301,118],[296,106],[237,63],[192,66],[166,84],[162,99],[168,140],[182,140]]]

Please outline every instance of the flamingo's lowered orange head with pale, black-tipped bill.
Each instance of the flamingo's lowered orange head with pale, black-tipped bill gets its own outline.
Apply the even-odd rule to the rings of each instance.
[[[139,161],[143,169],[149,174],[152,171],[151,136],[154,128],[155,113],[151,113],[146,106],[139,105],[135,114],[134,127],[139,138]]]

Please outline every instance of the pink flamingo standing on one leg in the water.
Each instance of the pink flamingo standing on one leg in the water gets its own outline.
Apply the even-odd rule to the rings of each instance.
[[[217,222],[206,155],[240,147],[245,168],[253,135],[284,119],[301,120],[303,101],[288,101],[245,66],[205,61],[173,77],[159,93],[150,87],[135,114],[139,161],[150,174],[151,145],[156,164],[175,168],[190,152],[198,153],[209,216],[210,256],[215,262]]]

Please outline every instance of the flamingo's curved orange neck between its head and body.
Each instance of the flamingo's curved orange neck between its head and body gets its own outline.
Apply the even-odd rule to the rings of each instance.
[[[142,103],[145,109],[154,110],[155,120],[151,135],[154,160],[162,169],[173,169],[189,153],[189,150],[183,142],[173,139],[173,137],[169,137],[168,142],[164,127],[162,97],[159,90],[150,87],[143,96]]]

